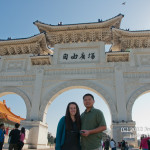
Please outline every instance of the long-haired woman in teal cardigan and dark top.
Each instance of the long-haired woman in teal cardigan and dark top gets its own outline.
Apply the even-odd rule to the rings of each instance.
[[[68,104],[66,115],[57,126],[56,150],[80,150],[80,111],[75,102]]]

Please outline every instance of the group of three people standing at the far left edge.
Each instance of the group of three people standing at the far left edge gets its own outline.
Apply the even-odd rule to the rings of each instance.
[[[20,124],[15,124],[15,129],[11,130],[9,133],[8,143],[9,143],[9,150],[22,150],[24,146],[24,139],[25,139],[25,128],[22,127],[19,130]],[[0,150],[2,150],[5,140],[5,126],[4,124],[0,124]]]

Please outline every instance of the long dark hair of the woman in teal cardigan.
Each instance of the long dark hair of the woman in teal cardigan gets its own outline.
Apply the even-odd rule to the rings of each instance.
[[[81,129],[81,119],[80,119],[80,110],[78,105],[75,102],[70,102],[66,109],[66,129],[71,130],[72,129],[72,119],[70,116],[69,107],[71,104],[76,105],[76,114],[75,114],[75,122],[77,124],[78,130]]]

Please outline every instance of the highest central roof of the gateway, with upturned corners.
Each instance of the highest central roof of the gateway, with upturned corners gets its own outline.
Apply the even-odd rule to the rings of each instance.
[[[111,28],[120,28],[124,16],[118,16],[97,23],[72,24],[72,25],[48,25],[39,21],[34,22],[40,32],[46,33],[46,41],[50,47],[61,43],[78,43],[104,41],[111,44]]]

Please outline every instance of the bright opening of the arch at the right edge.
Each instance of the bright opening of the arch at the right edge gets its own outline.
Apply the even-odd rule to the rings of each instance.
[[[132,120],[136,122],[137,139],[141,136],[150,136],[150,90],[140,94],[132,106]]]

